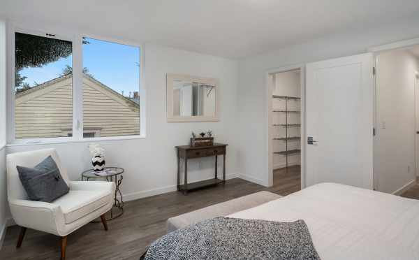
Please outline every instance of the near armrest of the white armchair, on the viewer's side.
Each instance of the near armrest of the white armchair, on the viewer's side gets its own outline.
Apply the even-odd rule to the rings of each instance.
[[[11,200],[10,212],[19,226],[62,236],[64,214],[59,205],[41,201]]]

